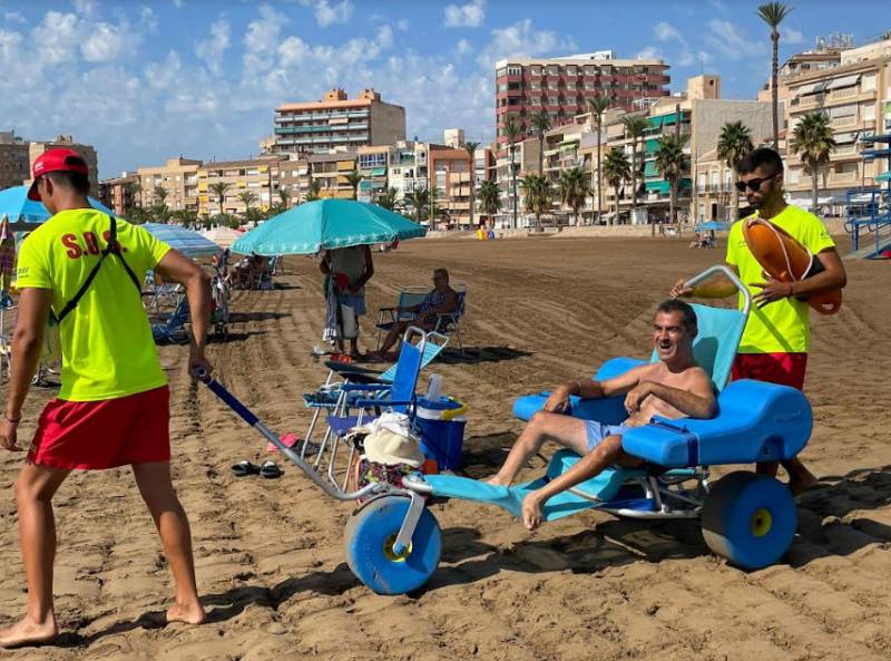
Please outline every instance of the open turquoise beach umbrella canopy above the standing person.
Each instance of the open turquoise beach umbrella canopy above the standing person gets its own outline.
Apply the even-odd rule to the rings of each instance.
[[[414,239],[427,229],[374,204],[319,200],[295,206],[247,232],[232,252],[258,255],[314,254],[320,250]]]

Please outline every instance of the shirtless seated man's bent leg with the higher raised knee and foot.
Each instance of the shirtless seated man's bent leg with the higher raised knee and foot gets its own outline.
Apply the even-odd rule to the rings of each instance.
[[[581,456],[588,454],[588,431],[585,420],[562,414],[538,411],[510,448],[505,465],[488,483],[510,486],[526,461],[541,449],[548,438]]]

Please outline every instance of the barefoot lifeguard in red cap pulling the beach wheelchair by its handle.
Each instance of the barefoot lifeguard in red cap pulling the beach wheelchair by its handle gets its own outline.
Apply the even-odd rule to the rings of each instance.
[[[88,167],[72,149],[50,149],[33,164],[29,197],[52,217],[22,243],[21,292],[12,339],[12,373],[0,445],[20,451],[18,427],[48,319],[62,342],[61,388],[37,422],[16,483],[28,600],[25,618],[0,631],[0,647],[53,639],[56,524],[52,496],[74,469],[131,465],[155,519],[176,584],[168,621],[198,624],[188,519],[170,480],[169,392],[143,308],[137,273],[149,269],[186,289],[192,313],[193,369],[204,356],[209,280],[190,260],[139,226],[95,211]]]

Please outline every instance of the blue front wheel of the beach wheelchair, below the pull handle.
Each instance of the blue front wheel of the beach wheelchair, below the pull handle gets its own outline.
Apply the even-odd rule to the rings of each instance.
[[[346,524],[346,564],[378,594],[417,590],[439,565],[442,535],[435,517],[427,508],[421,513],[409,548],[402,554],[393,551],[409,503],[404,496],[375,498],[354,513]]]

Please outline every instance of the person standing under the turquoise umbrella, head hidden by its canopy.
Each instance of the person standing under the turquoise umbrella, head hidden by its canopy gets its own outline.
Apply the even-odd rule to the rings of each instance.
[[[319,269],[335,281],[346,282],[339,294],[343,337],[337,337],[337,350],[343,351],[343,340],[347,339],[350,354],[359,358],[359,317],[365,313],[365,284],[374,275],[371,249],[368,245],[353,245],[325,251]]]

